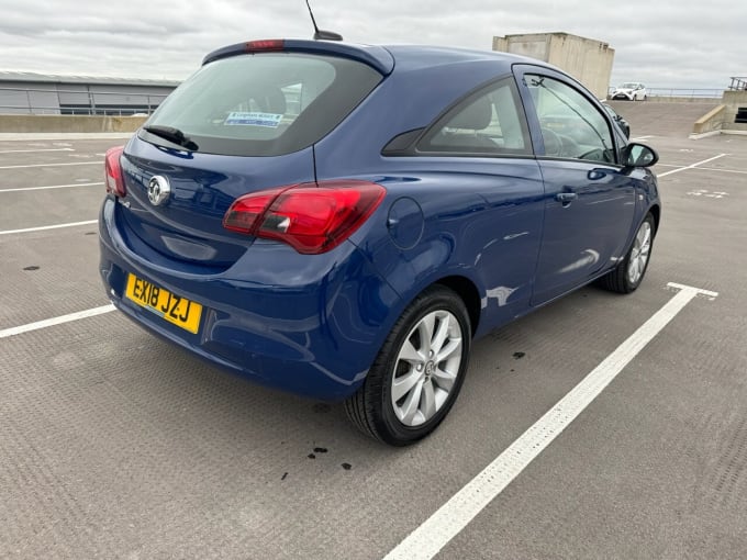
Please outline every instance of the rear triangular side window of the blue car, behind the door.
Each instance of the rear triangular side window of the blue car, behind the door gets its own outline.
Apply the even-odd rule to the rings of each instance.
[[[493,83],[456,105],[416,149],[465,156],[529,155],[532,144],[513,79]]]

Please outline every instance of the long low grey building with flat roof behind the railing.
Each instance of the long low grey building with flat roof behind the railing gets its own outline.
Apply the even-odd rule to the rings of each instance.
[[[149,114],[178,81],[0,71],[0,114]]]

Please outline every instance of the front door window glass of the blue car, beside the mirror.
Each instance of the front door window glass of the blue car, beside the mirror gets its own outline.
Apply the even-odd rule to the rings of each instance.
[[[525,76],[545,143],[545,155],[614,163],[606,119],[579,91],[546,76]]]

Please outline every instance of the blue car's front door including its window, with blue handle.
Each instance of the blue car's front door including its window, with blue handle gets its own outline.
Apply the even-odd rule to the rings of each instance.
[[[612,123],[573,80],[515,68],[545,182],[545,216],[532,304],[583,285],[622,259],[635,183],[622,172]]]

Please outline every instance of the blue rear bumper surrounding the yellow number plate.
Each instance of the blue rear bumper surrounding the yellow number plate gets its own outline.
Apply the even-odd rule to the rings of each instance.
[[[317,256],[255,243],[227,270],[197,275],[138,257],[116,214],[108,198],[99,269],[112,303],[152,333],[255,382],[345,399],[363,382],[399,314],[398,295],[350,243]],[[125,298],[129,273],[201,303],[197,334]]]

